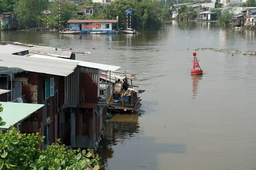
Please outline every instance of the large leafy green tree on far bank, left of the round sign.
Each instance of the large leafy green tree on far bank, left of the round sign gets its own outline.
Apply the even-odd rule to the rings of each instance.
[[[15,4],[15,14],[21,27],[41,25],[42,12],[47,9],[49,0],[19,0]]]

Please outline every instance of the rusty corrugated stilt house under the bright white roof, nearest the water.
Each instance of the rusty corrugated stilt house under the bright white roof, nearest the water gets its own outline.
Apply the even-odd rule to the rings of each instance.
[[[50,60],[67,61],[56,57],[32,55]],[[104,125],[104,113],[110,100],[110,83],[100,82],[100,71],[116,71],[118,66],[69,60],[78,64],[75,71],[63,77],[64,96],[59,96],[60,137],[73,148],[96,147]]]

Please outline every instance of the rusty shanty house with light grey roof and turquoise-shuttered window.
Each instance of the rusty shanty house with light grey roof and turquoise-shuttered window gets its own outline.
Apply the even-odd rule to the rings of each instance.
[[[59,89],[64,89],[64,84],[59,81],[61,77],[71,74],[77,64],[3,53],[0,58],[0,65],[6,68],[1,73],[0,84],[11,90],[9,101],[20,101],[21,98],[21,102],[44,104],[42,109],[21,123],[20,131],[39,132],[41,136],[46,136],[42,145],[45,149],[59,138],[58,96]]]

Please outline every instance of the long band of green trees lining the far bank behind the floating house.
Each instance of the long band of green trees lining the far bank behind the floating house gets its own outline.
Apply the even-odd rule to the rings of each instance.
[[[78,16],[77,10],[84,6],[95,6],[92,16]],[[132,27],[154,29],[169,20],[169,6],[157,0],[118,0],[110,4],[93,3],[87,0],[84,5],[75,6],[70,0],[61,0],[61,27],[65,27],[70,19],[116,19],[119,18],[119,28],[126,27],[126,9],[132,9]],[[32,28],[47,25],[44,10],[50,10],[48,15],[49,28],[58,28],[58,0],[0,0],[0,13],[14,11],[17,25],[20,28]]]

